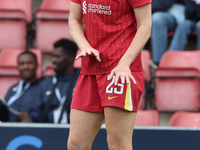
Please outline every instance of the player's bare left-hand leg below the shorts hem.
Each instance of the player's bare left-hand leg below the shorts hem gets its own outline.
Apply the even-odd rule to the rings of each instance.
[[[87,149],[104,121],[103,113],[71,109],[68,147]]]

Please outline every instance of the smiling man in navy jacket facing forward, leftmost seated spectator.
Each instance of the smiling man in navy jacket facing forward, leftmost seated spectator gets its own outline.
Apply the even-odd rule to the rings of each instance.
[[[18,56],[17,65],[21,80],[8,90],[5,99],[7,106],[13,110],[10,114],[11,122],[29,122],[32,106],[37,101],[35,93],[41,81],[36,79],[37,57],[32,52],[22,52]]]

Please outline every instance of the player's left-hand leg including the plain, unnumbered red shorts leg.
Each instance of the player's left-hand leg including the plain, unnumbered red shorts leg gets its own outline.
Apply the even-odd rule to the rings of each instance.
[[[80,74],[71,108],[68,150],[90,150],[104,121],[96,76]]]

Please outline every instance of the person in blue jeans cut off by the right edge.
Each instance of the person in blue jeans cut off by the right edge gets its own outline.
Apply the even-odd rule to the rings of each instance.
[[[200,50],[200,1],[187,0],[185,18],[179,23],[172,38],[169,50],[184,50],[188,43],[188,35],[197,31],[197,49]]]

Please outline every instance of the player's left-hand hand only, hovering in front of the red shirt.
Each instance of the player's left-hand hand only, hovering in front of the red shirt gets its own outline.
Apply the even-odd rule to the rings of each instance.
[[[76,56],[76,59],[85,57],[87,55],[95,56],[97,61],[99,61],[99,62],[101,61],[100,56],[99,56],[99,52],[92,47],[91,48],[85,48],[85,49],[81,50],[81,52]]]

